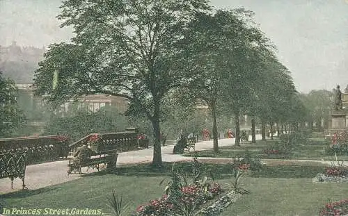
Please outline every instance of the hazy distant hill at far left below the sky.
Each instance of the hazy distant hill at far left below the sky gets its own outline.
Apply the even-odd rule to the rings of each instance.
[[[15,42],[9,47],[0,46],[0,71],[15,83],[33,83],[34,71],[44,53],[45,48],[19,47]]]

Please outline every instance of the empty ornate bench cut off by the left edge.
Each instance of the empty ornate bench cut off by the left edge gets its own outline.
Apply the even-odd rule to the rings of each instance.
[[[24,183],[26,158],[27,153],[25,151],[0,154],[0,178],[10,178],[11,189],[13,189],[13,180],[15,178],[21,178],[22,188],[26,189]]]

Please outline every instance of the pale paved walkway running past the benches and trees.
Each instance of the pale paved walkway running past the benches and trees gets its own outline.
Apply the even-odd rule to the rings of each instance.
[[[257,140],[260,139],[260,135],[257,136]],[[221,139],[219,140],[219,147],[224,147],[228,145],[235,144],[235,139]],[[212,149],[213,143],[212,140],[201,141],[196,144],[196,151],[202,151],[207,149]],[[181,155],[173,155],[173,145],[168,145],[161,147],[162,151],[162,160],[164,162],[175,162],[182,160],[191,160],[189,157],[184,157]],[[152,161],[153,149],[143,149],[139,151],[128,151],[119,153],[117,165],[126,165],[126,164],[136,164],[136,163],[146,163]],[[200,159],[200,158],[198,158]],[[201,158],[204,160],[231,160],[231,158]],[[296,160],[303,162],[310,162],[312,160]],[[314,160],[313,160],[314,161]],[[266,161],[265,161],[266,162]],[[318,162],[316,160],[315,162]],[[330,164],[329,161],[320,161],[322,163]],[[266,162],[267,163],[267,162]],[[45,188],[49,185],[56,185],[59,183],[64,183],[67,181],[72,181],[77,178],[81,178],[78,174],[67,175],[68,170],[68,161],[55,161],[50,163],[42,163],[38,165],[30,165],[26,167],[26,187],[29,190],[35,190],[38,188]],[[83,169],[84,173],[95,172],[95,170],[90,169],[86,172],[86,167]],[[13,189],[10,188],[10,179],[3,178],[0,179],[0,194],[13,192],[16,190],[22,189],[22,181],[19,178],[16,178],[13,182]]]

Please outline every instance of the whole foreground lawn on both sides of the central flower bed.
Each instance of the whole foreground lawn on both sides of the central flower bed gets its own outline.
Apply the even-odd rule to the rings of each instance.
[[[175,164],[187,171],[191,169],[190,163]],[[209,163],[204,166],[217,173],[216,181],[227,187],[230,165]],[[172,163],[164,163],[162,169],[152,169],[145,164],[121,167],[117,174],[99,172],[40,190],[3,194],[0,203],[8,208],[101,208],[109,213],[107,198],[114,189],[129,202],[131,213],[150,199],[161,197],[164,188],[159,182],[168,176],[171,167]],[[261,172],[244,178],[245,188],[251,194],[237,200],[222,215],[317,215],[328,199],[348,198],[347,185],[312,183],[311,178],[323,169],[319,163],[264,167]]]

